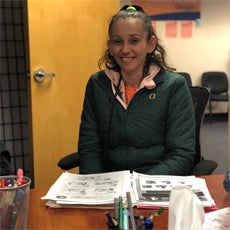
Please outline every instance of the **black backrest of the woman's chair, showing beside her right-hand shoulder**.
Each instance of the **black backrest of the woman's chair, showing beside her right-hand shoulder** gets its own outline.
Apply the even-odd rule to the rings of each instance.
[[[196,120],[196,155],[195,165],[201,161],[201,147],[200,147],[200,130],[203,123],[204,112],[207,106],[210,91],[206,87],[201,86],[189,86],[190,93],[193,100],[195,109],[195,120]]]

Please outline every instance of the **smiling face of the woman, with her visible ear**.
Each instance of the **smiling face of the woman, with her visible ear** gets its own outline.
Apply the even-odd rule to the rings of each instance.
[[[147,41],[147,31],[140,19],[119,19],[111,27],[108,49],[120,66],[122,74],[143,74],[146,55],[155,46],[154,36]]]

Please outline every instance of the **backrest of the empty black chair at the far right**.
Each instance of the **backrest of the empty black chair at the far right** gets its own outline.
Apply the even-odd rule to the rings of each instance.
[[[228,77],[224,72],[209,71],[201,76],[202,86],[208,87],[211,94],[228,92]]]

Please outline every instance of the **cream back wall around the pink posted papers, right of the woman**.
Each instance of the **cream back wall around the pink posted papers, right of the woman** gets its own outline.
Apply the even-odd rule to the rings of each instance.
[[[230,79],[230,0],[201,0],[200,24],[193,22],[192,38],[165,37],[165,22],[156,31],[178,71],[191,74],[193,85],[200,85],[205,71],[224,71]],[[230,82],[230,81],[229,81]],[[214,112],[226,112],[227,103],[214,104]]]

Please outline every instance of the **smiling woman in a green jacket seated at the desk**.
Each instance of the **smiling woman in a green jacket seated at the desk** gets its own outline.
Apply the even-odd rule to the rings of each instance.
[[[194,108],[185,79],[139,6],[109,24],[106,65],[88,81],[78,151],[80,173],[130,170],[188,175],[195,155]]]

